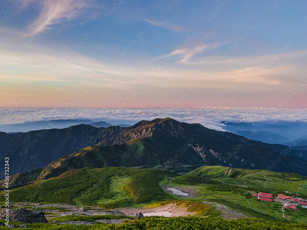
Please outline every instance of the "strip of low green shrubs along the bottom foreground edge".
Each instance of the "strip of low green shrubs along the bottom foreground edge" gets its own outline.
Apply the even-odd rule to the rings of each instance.
[[[4,224],[2,220],[0,224]],[[18,224],[19,225],[19,224]],[[123,224],[94,224],[94,225],[55,225],[55,224],[26,224],[27,229],[41,230],[306,230],[307,224],[282,223],[279,221],[254,218],[238,220],[222,220],[220,218],[201,217],[143,217],[140,220],[124,220]],[[7,229],[0,227],[0,229]]]

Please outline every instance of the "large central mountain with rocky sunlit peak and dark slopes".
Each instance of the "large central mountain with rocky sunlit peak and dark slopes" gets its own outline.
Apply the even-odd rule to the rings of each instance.
[[[25,184],[84,167],[160,167],[179,173],[203,165],[223,165],[307,175],[305,160],[233,133],[170,118],[141,121],[105,137],[98,146],[84,148],[52,162],[38,177],[35,174],[29,179],[29,175],[21,173],[21,179],[15,181]]]

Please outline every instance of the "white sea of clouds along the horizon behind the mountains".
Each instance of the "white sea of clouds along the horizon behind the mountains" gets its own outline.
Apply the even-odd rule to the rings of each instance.
[[[307,122],[307,109],[276,108],[145,108],[145,109],[95,109],[95,108],[0,108],[0,125],[50,120],[93,120],[111,124],[133,125],[141,120],[170,117],[187,123],[200,123],[207,128],[225,131],[221,124],[227,122],[278,121]]]

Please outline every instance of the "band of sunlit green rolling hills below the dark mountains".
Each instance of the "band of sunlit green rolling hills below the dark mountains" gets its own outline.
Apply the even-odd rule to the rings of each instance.
[[[163,185],[190,190],[193,196],[179,197],[164,191]],[[294,193],[295,197],[307,198],[307,178],[221,166],[200,167],[182,176],[161,169],[106,167],[70,170],[58,177],[13,189],[10,201],[91,205],[105,209],[144,205],[155,208],[173,203],[186,207],[193,215],[210,218],[223,214],[223,211],[210,207],[220,204],[247,217],[306,223],[307,209],[301,206],[297,206],[297,211],[285,209],[283,217],[281,203],[259,201],[251,196],[251,192],[277,195],[286,194],[285,191]],[[0,194],[0,201],[3,197]],[[51,210],[56,209],[63,208],[53,207]]]

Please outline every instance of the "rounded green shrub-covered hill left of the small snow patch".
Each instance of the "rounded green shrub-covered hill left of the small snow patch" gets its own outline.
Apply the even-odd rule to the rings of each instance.
[[[13,189],[10,201],[123,207],[173,200],[159,182],[174,176],[161,169],[84,168]]]

